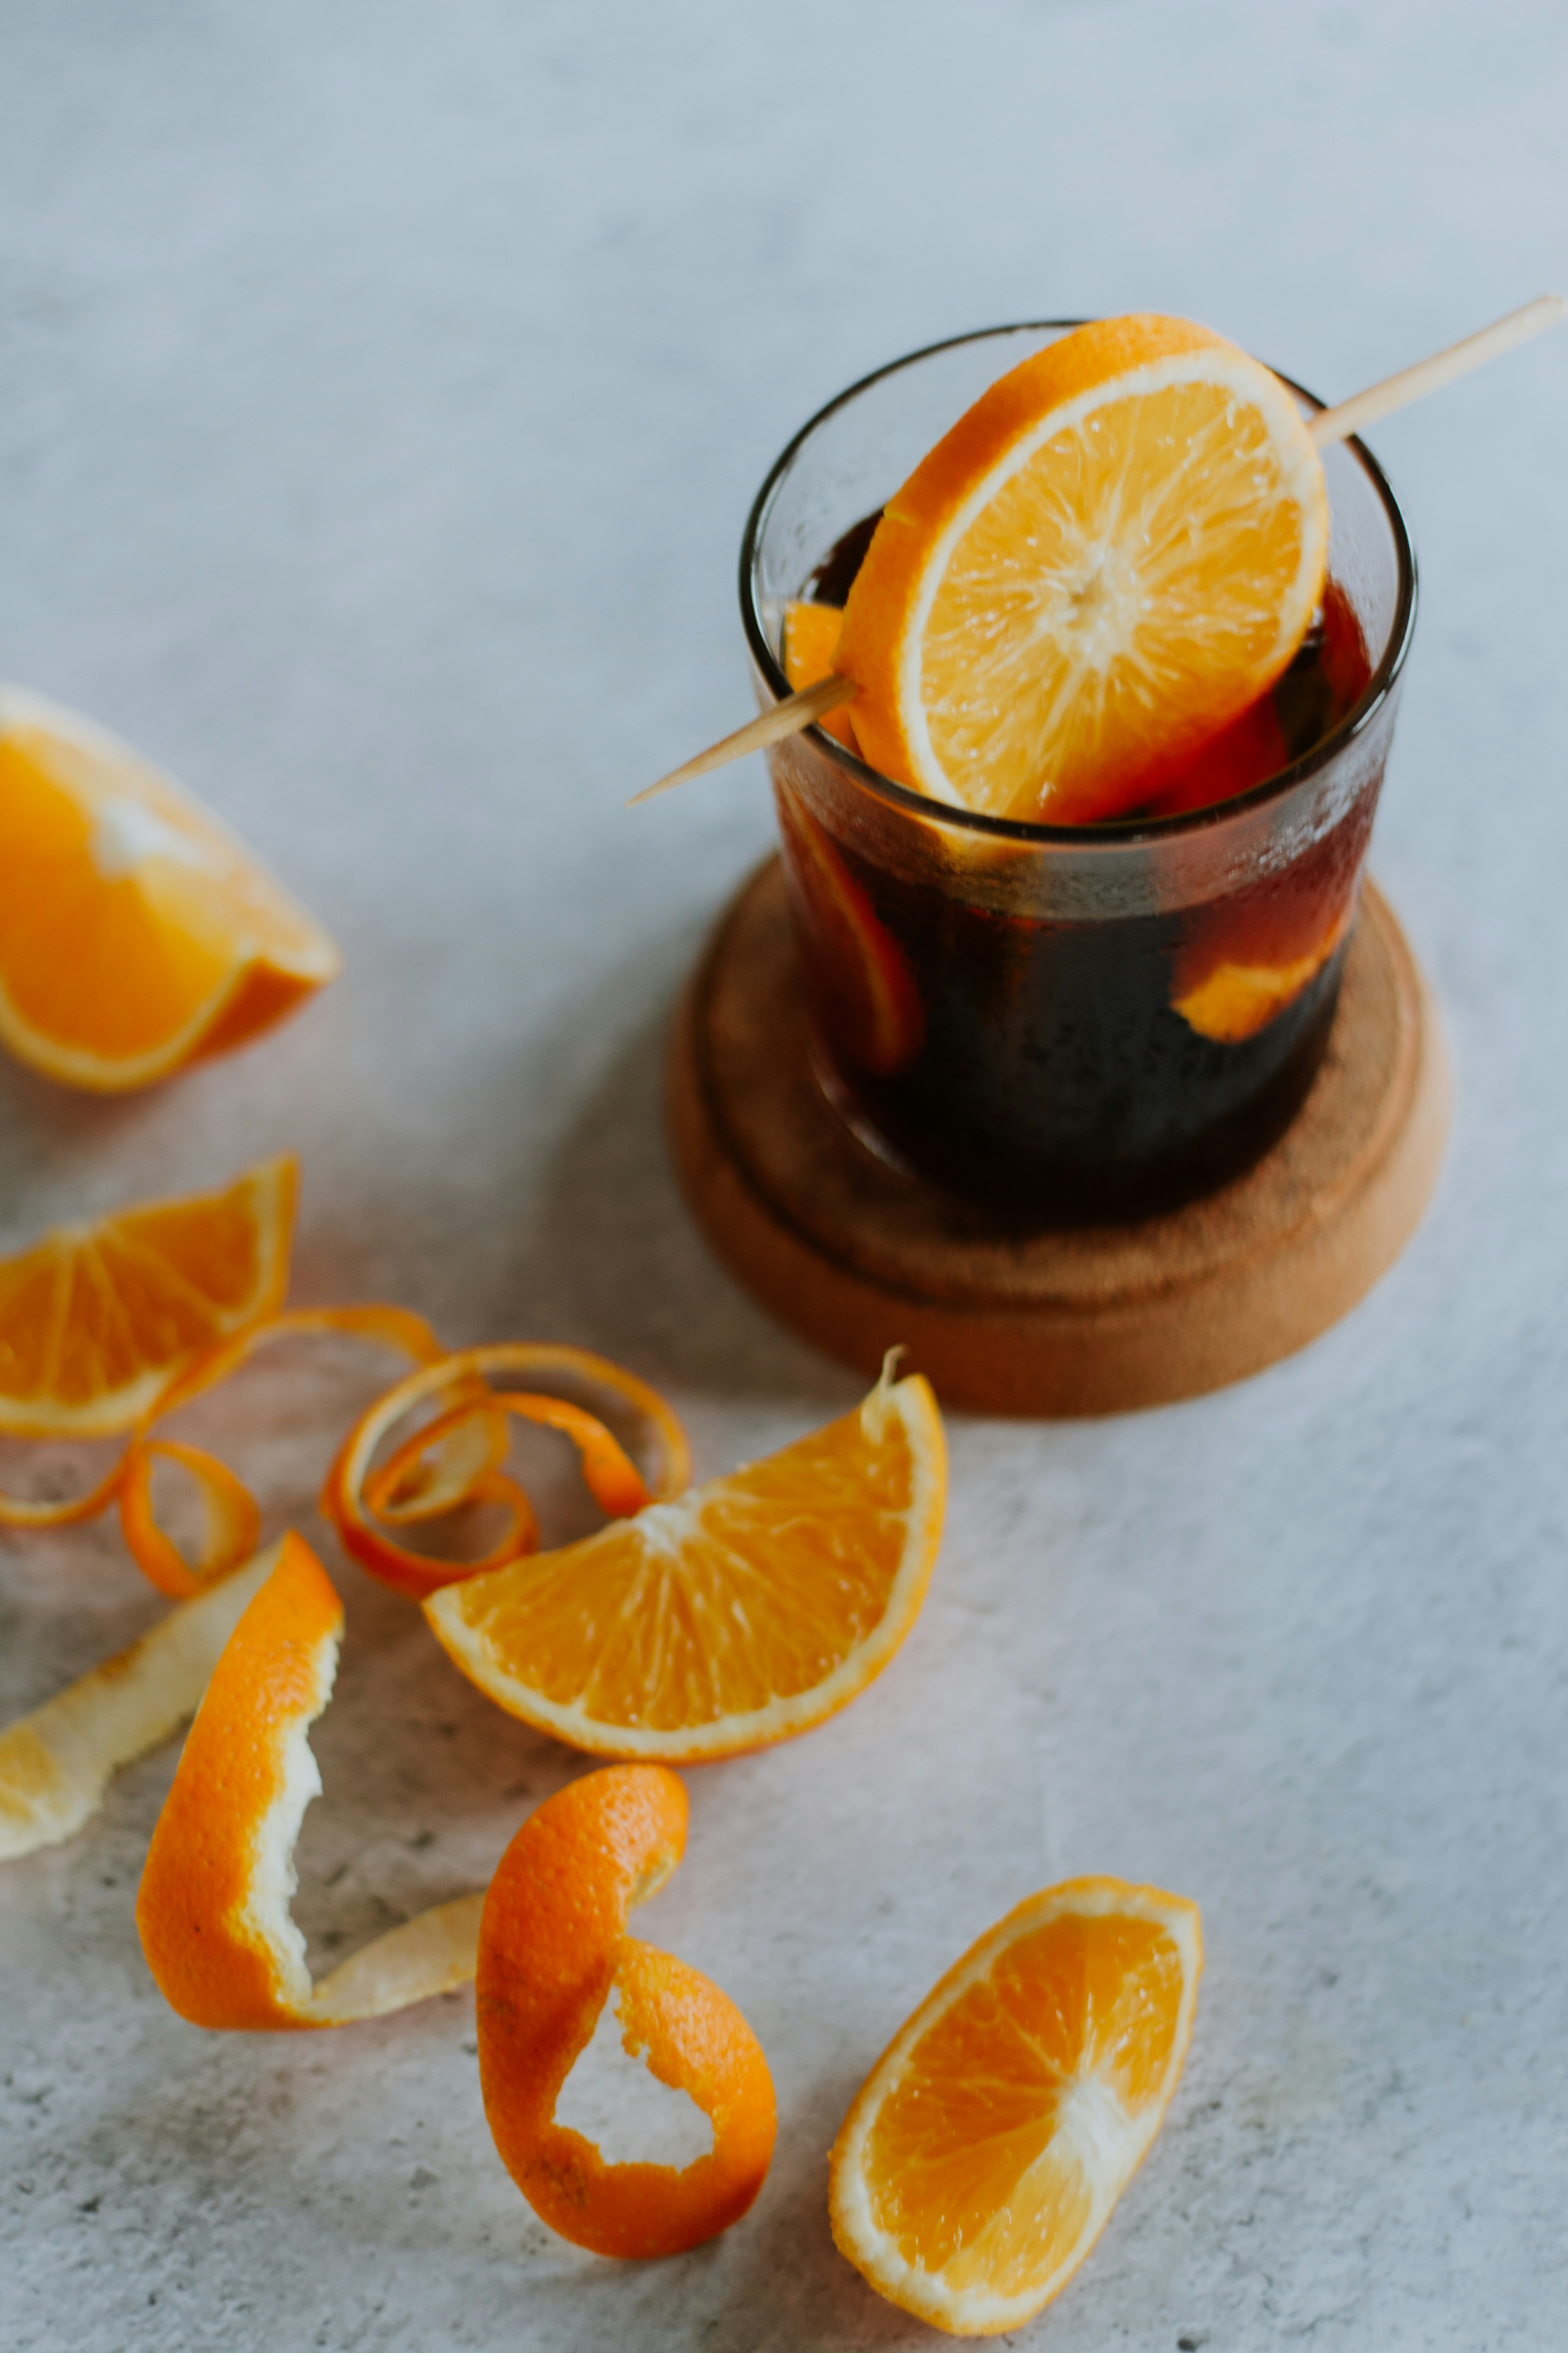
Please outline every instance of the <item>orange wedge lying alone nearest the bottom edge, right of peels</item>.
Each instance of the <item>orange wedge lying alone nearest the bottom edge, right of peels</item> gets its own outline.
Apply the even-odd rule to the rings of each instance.
[[[952,2337],[1060,2294],[1147,2155],[1192,2040],[1197,1904],[1124,1880],[1027,1897],[926,1995],[832,2146],[832,2235]]]

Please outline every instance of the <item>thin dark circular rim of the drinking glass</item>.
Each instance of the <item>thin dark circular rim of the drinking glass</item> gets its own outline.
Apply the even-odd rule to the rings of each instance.
[[[886,360],[884,367],[872,367],[870,374],[858,376],[853,384],[844,386],[842,393],[835,393],[832,400],[823,402],[823,407],[806,419],[799,433],[795,433],[785,442],[785,447],[769,466],[762,489],[752,499],[752,511],[745,518],[745,532],[741,534],[741,624],[745,628],[745,642],[750,647],[752,661],[757,664],[764,685],[771,689],[773,701],[785,701],[792,687],[783,668],[778,666],[771,645],[766,642],[766,633],[762,628],[762,614],[757,612],[757,598],[752,595],[757,544],[762,539],[762,527],[773,504],[773,494],[778,492],[783,478],[795,464],[799,449],[811,440],[818,426],[823,426],[830,416],[835,416],[837,409],[849,407],[851,400],[858,400],[858,395],[870,391],[872,384],[882,384],[884,376],[896,376],[900,369],[914,367],[919,360],[933,360],[940,351],[957,351],[961,344],[985,344],[992,336],[1004,336],[1004,334],[1048,334],[1053,329],[1070,334],[1074,327],[1086,327],[1086,325],[1091,325],[1091,320],[1025,318],[1025,320],[1011,320],[1001,327],[971,327],[966,334],[947,334],[938,344],[922,344],[917,351],[905,351],[903,358]],[[1281,369],[1269,369],[1269,374],[1279,376],[1279,381],[1288,386],[1288,391],[1293,391],[1300,400],[1309,402],[1314,412],[1321,414],[1321,409],[1328,405],[1319,400],[1316,393],[1309,393],[1305,384],[1298,384]],[[1265,809],[1269,802],[1284,800],[1309,776],[1316,776],[1333,760],[1338,760],[1338,755],[1373,725],[1373,720],[1378,718],[1378,713],[1382,711],[1382,706],[1387,704],[1389,694],[1399,682],[1399,675],[1406,666],[1406,654],[1410,652],[1410,638],[1415,633],[1415,600],[1418,600],[1415,548],[1410,546],[1410,532],[1406,529],[1403,513],[1399,511],[1399,499],[1394,496],[1389,478],[1385,475],[1382,466],[1356,433],[1349,433],[1342,447],[1354,449],[1363,473],[1368,475],[1373,489],[1382,499],[1382,508],[1389,520],[1389,529],[1394,534],[1394,555],[1399,562],[1399,593],[1394,600],[1394,619],[1389,624],[1389,638],[1382,649],[1382,656],[1373,668],[1373,675],[1366,682],[1366,689],[1349,706],[1338,727],[1331,727],[1331,732],[1319,744],[1314,744],[1312,751],[1302,753],[1300,760],[1293,760],[1288,767],[1281,767],[1272,776],[1265,776],[1262,784],[1248,786],[1246,793],[1232,793],[1229,800],[1215,800],[1204,809],[1182,809],[1175,816],[1119,816],[1119,819],[1103,819],[1100,824],[1093,826],[1046,826],[1027,816],[992,816],[985,809],[954,807],[947,800],[936,800],[931,793],[917,793],[907,784],[893,784],[891,776],[884,776],[882,769],[870,767],[865,760],[851,753],[846,744],[839,744],[837,736],[830,736],[818,725],[804,727],[802,734],[811,736],[813,746],[823,755],[827,755],[849,776],[851,784],[856,784],[860,791],[875,793],[877,800],[886,800],[893,807],[910,809],[914,816],[926,819],[926,824],[936,821],[954,826],[961,833],[985,833],[992,840],[1006,840],[1006,842],[1041,842],[1041,845],[1051,842],[1063,849],[1133,847],[1143,842],[1168,842],[1180,835],[1206,833],[1213,826],[1229,821],[1232,816],[1241,816],[1253,809]]]

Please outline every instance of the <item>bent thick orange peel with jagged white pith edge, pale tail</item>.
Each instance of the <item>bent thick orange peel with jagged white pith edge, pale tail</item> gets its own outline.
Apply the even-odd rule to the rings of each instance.
[[[322,1786],[308,1734],[341,1635],[331,1579],[287,1534],[212,1668],[136,1897],[148,1967],[193,2026],[348,2026],[475,1972],[482,1894],[437,1904],[310,1984],[289,1913],[294,1840]]]

